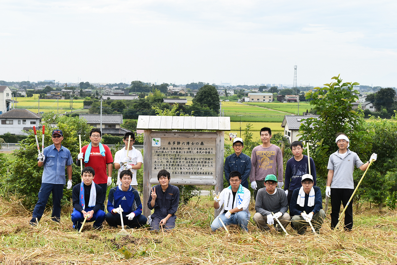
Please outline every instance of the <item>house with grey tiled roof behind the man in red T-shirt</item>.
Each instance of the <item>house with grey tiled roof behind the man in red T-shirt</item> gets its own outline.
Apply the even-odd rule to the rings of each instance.
[[[87,123],[95,128],[100,128],[100,114],[80,114],[80,118],[85,118]],[[123,124],[122,114],[102,114],[102,134],[111,134],[116,136],[123,136],[130,132],[127,129],[121,128]]]

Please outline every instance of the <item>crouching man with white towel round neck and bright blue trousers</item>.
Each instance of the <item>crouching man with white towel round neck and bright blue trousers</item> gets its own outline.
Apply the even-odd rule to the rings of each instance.
[[[93,228],[101,228],[105,220],[105,212],[102,206],[102,188],[94,183],[95,171],[91,166],[86,166],[81,171],[82,182],[73,187],[73,213],[71,219],[73,228],[80,230],[81,222],[87,216],[86,222],[94,222]]]

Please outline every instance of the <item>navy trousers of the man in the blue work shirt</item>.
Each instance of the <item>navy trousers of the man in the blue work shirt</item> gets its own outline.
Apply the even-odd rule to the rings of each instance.
[[[64,184],[51,184],[42,183],[39,190],[39,200],[36,203],[35,209],[33,210],[33,218],[37,218],[40,221],[44,210],[46,209],[48,197],[52,192],[52,215],[56,219],[61,218],[61,199],[64,195]]]

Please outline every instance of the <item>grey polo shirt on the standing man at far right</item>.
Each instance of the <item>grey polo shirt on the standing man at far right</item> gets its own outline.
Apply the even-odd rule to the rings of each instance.
[[[327,169],[333,170],[331,188],[337,189],[354,189],[353,170],[354,166],[358,168],[364,163],[361,162],[357,153],[347,149],[345,158],[339,155],[339,150],[330,155]]]

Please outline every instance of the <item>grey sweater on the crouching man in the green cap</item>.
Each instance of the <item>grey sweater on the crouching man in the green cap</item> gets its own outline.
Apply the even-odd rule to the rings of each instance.
[[[270,195],[266,188],[258,190],[255,201],[255,211],[261,215],[270,215],[281,212],[284,214],[288,210],[287,195],[280,188],[276,188],[275,193]]]

